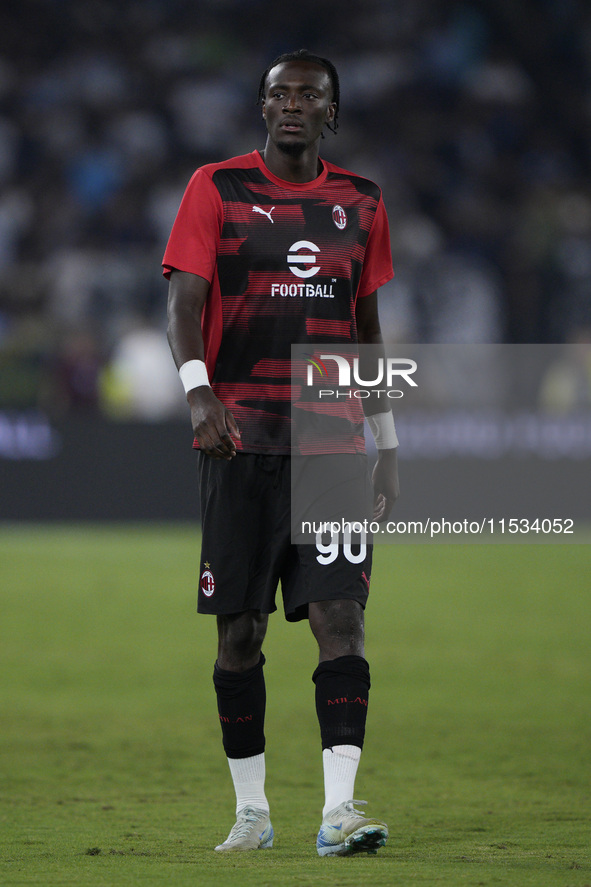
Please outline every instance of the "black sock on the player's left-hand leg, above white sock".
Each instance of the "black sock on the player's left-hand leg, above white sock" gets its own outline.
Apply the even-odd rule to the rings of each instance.
[[[265,657],[247,671],[225,671],[216,662],[213,683],[218,700],[224,751],[229,758],[250,758],[265,750]]]

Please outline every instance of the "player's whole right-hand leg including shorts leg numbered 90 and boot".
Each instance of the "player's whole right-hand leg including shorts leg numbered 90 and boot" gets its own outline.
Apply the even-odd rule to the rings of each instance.
[[[298,571],[289,577],[284,602],[288,619],[308,618],[319,648],[313,679],[325,783],[317,842],[321,855],[372,850],[387,836],[383,823],[375,824],[378,835],[374,823],[352,807],[370,688],[364,608],[372,562],[371,538],[352,529],[371,514],[372,499],[365,456],[306,456],[292,465]],[[333,529],[337,518],[347,521],[343,531]],[[316,529],[304,533],[305,526],[317,527],[323,521],[324,533]],[[337,818],[334,823],[332,813]]]

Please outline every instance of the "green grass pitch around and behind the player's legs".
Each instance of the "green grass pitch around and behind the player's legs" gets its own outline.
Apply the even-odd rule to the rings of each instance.
[[[273,850],[216,854],[234,797],[190,526],[0,530],[0,883],[591,884],[591,550],[375,554],[357,796],[378,856],[319,859],[306,624],[271,619]]]

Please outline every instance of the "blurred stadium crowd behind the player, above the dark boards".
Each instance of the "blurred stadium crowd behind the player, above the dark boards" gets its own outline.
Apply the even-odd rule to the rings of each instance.
[[[321,153],[383,188],[386,337],[588,336],[586,0],[23,0],[0,12],[0,409],[184,415],[170,226],[197,166],[263,147],[260,74],[302,46],[341,76]]]

